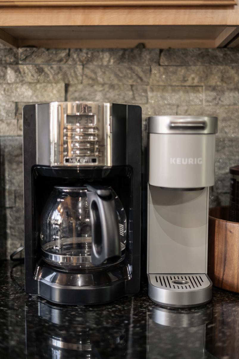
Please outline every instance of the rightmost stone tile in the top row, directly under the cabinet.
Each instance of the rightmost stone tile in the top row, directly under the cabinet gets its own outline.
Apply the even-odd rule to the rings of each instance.
[[[239,49],[170,48],[162,51],[159,62],[160,65],[177,66],[236,66],[239,64]]]

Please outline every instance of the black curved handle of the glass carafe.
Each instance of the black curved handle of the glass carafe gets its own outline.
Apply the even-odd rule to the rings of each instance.
[[[86,187],[92,223],[91,258],[92,264],[97,266],[109,258],[120,258],[119,222],[112,191],[103,187]]]

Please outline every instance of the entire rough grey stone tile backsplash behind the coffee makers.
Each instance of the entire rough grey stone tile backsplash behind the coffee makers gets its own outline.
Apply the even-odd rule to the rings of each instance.
[[[22,106],[30,102],[139,104],[143,117],[219,118],[210,205],[229,202],[239,164],[239,49],[0,48],[0,258],[23,244]]]

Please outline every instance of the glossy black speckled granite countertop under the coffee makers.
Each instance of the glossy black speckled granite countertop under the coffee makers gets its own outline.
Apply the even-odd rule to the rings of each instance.
[[[100,306],[60,306],[24,292],[24,265],[0,263],[1,358],[239,358],[239,295],[166,309],[147,296]]]

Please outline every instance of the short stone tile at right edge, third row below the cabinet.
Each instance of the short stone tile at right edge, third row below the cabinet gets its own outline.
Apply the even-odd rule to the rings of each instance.
[[[205,87],[203,92],[205,106],[239,105],[239,88],[225,86]]]

